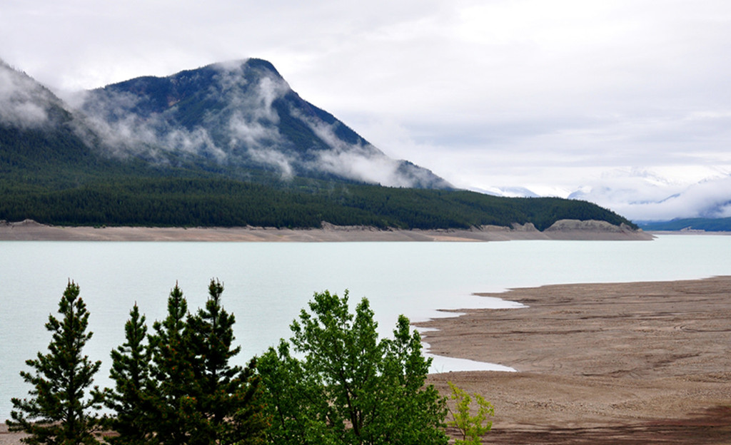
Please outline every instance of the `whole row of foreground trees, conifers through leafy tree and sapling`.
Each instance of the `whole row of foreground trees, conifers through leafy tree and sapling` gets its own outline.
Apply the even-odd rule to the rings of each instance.
[[[137,304],[124,325],[125,341],[111,352],[114,387],[88,389],[101,362],[82,355],[91,338],[88,311],[69,282],[49,316],[48,354],[38,353],[21,372],[31,398],[13,398],[11,430],[28,444],[98,444],[104,426],[112,444],[130,445],[444,445],[444,427],[456,427],[456,444],[479,444],[491,428],[493,408],[480,395],[452,388],[447,400],[426,385],[431,359],[418,332],[399,316],[393,336],[379,338],[374,312],[363,298],[351,313],[344,297],[314,294],[290,328],[292,337],[249,365],[232,365],[235,317],[221,305],[224,287],[208,286],[205,307],[191,314],[176,284],[167,317],[148,335]],[[257,372],[258,370],[258,372]],[[112,414],[96,414],[104,403]]]

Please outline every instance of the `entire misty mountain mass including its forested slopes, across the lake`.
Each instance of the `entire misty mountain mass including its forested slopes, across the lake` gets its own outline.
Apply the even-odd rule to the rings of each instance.
[[[399,228],[600,220],[589,202],[455,190],[301,99],[268,61],[139,77],[61,101],[0,61],[0,220]]]

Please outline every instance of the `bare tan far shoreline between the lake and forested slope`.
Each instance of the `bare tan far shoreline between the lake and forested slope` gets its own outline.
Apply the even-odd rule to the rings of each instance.
[[[561,223],[561,224],[559,224]],[[64,227],[36,221],[0,221],[2,241],[195,241],[195,242],[370,242],[370,241],[509,241],[509,240],[652,240],[642,230],[599,221],[558,221],[539,232],[532,224],[513,228],[484,226],[472,229],[376,229],[334,226],[321,229],[274,227]],[[555,224],[555,225],[556,225]]]

